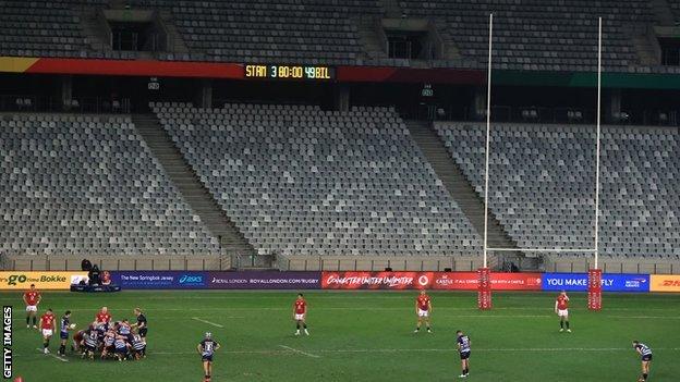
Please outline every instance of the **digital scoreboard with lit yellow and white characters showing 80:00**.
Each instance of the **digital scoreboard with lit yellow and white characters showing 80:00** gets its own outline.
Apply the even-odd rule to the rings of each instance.
[[[332,81],[336,70],[325,65],[264,65],[246,64],[245,78]]]

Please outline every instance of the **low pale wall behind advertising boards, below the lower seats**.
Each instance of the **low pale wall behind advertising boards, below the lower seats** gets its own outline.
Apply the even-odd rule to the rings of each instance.
[[[87,256],[102,270],[137,271],[226,271],[236,263],[223,256]],[[0,270],[77,271],[83,257],[76,256],[0,256]],[[491,258],[489,267],[499,269]],[[277,256],[274,268],[280,271],[447,271],[471,272],[482,267],[481,257],[453,256]],[[594,267],[592,258],[546,257],[539,272],[585,273]],[[600,256],[605,273],[680,274],[680,262],[671,258],[627,258]]]

